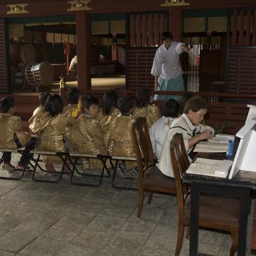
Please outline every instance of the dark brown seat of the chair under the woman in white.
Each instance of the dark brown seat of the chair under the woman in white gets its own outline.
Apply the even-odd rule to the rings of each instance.
[[[155,191],[166,189],[166,192],[170,191],[170,193],[176,194],[175,180],[166,178],[156,166],[148,168],[144,173],[143,186],[145,188],[154,186]]]

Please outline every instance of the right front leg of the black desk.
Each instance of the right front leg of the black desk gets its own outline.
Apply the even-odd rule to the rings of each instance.
[[[246,252],[247,221],[250,210],[250,189],[240,190],[241,195],[237,256],[244,256]]]

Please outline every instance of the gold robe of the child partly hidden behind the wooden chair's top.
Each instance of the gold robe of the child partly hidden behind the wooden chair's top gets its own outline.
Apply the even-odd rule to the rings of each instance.
[[[132,111],[132,118],[145,117],[147,119],[148,129],[161,117],[159,108],[152,104],[148,104],[147,107],[134,108]]]

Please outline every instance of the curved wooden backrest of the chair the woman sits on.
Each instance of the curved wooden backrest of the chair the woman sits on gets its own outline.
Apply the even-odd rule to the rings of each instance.
[[[140,184],[144,172],[150,166],[154,166],[154,154],[145,117],[138,117],[132,124],[132,140],[138,164]]]

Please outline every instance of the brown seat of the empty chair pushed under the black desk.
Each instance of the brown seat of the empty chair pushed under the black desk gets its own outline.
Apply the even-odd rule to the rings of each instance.
[[[239,225],[239,199],[220,196],[200,195],[200,222],[220,223],[221,225]],[[184,222],[190,223],[191,197],[185,203]]]

